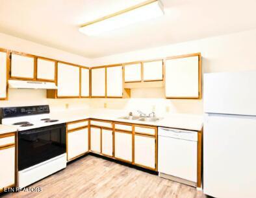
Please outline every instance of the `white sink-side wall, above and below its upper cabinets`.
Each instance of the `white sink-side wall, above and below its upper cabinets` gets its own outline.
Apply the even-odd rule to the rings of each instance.
[[[137,50],[123,54],[105,56],[93,60],[93,65],[108,65],[138,60],[164,58],[181,54],[201,52],[203,72],[226,72],[256,70],[256,29],[224,36],[205,38],[185,43],[166,45],[153,49]],[[203,113],[202,100],[165,100],[164,89],[133,89],[133,99],[118,102],[118,108],[134,108],[144,111],[155,109],[162,115],[168,109],[171,113]],[[151,98],[143,100],[143,98]],[[94,107],[113,107],[114,100],[96,99]]]

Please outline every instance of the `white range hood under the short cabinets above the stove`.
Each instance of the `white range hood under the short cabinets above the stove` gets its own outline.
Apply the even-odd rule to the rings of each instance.
[[[16,89],[57,89],[53,82],[35,82],[25,80],[8,80],[9,88]]]

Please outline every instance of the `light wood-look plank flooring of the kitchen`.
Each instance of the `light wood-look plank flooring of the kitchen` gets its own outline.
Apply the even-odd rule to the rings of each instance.
[[[6,193],[3,197],[205,197],[196,188],[92,155],[29,187],[41,187],[42,192]]]

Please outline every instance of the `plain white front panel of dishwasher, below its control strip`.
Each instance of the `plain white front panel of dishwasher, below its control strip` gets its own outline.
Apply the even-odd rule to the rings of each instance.
[[[197,182],[198,142],[159,136],[159,172]]]

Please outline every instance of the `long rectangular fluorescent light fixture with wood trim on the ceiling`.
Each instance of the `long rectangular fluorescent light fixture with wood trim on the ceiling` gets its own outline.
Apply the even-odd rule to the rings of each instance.
[[[164,15],[164,11],[160,0],[150,0],[120,12],[110,14],[109,16],[85,23],[79,28],[79,31],[88,36],[94,36],[162,15]]]

